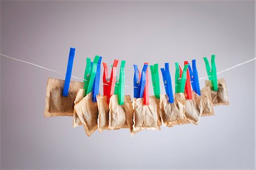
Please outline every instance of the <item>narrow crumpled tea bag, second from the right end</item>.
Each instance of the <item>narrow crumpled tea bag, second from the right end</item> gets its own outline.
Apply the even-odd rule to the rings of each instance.
[[[201,116],[203,117],[203,116],[214,115],[212,94],[209,86],[201,89],[201,98],[202,98],[203,108],[204,108]]]

